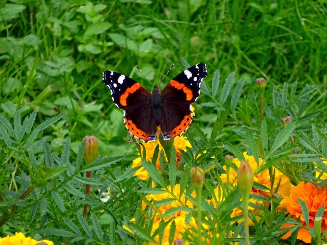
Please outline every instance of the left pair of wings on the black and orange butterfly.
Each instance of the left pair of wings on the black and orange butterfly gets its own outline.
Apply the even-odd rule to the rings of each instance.
[[[124,123],[131,135],[144,142],[157,138],[157,127],[152,120],[150,93],[128,76],[103,72],[103,83],[111,90],[115,105],[124,110]]]

